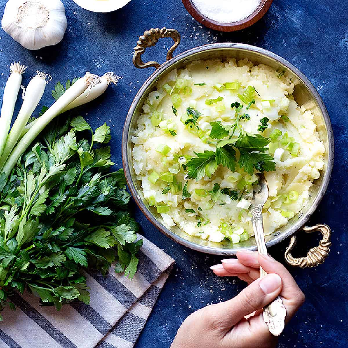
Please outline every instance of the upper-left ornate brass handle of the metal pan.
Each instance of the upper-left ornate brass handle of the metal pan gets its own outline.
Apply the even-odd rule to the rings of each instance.
[[[153,66],[158,69],[161,64],[157,62],[147,62],[143,63],[141,60],[141,55],[145,52],[145,49],[151,46],[155,46],[159,39],[161,38],[172,38],[174,40],[174,45],[167,52],[167,61],[173,58],[173,52],[175,48],[180,44],[180,34],[175,29],[167,29],[163,27],[162,29],[150,29],[144,32],[143,35],[139,37],[137,46],[134,47],[133,54],[133,64],[136,68],[145,69],[149,66]]]

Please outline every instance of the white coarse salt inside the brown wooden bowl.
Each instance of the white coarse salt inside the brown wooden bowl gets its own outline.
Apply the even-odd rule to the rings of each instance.
[[[219,23],[234,23],[250,16],[261,0],[192,0],[204,16]]]

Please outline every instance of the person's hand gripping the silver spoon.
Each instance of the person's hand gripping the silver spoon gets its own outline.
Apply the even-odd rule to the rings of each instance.
[[[260,266],[268,273],[263,278]],[[222,260],[211,269],[218,276],[237,276],[248,286],[233,299],[211,304],[187,317],[171,348],[276,347],[278,339],[268,331],[262,308],[280,294],[288,323],[304,302],[302,291],[287,269],[257,252],[238,252],[237,259]]]

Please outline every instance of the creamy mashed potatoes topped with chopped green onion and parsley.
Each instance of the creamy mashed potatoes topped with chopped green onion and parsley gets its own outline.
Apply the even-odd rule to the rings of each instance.
[[[246,59],[196,61],[157,82],[132,155],[144,198],[166,226],[217,243],[250,238],[248,197],[260,172],[269,187],[265,234],[300,212],[324,145],[293,88],[284,71]]]

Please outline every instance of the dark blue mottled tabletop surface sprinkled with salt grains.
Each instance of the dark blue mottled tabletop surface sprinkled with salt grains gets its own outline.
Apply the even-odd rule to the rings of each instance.
[[[315,269],[291,269],[307,300],[286,327],[279,347],[347,347],[348,1],[275,0],[258,23],[227,34],[200,26],[187,14],[180,0],[132,0],[110,14],[88,12],[71,0],[63,0],[63,3],[68,29],[63,41],[54,47],[28,51],[1,32],[0,88],[3,89],[6,82],[8,64],[16,60],[29,66],[24,75],[25,83],[36,70],[51,74],[54,82],[82,76],[86,70],[100,75],[115,71],[123,76],[117,87],[110,87],[82,113],[93,126],[104,121],[111,126],[113,160],[118,166],[121,165],[121,132],[127,110],[141,84],[152,73],[152,69],[138,70],[132,64],[137,36],[144,30],[157,26],[179,30],[182,42],[178,53],[220,41],[263,47],[293,63],[311,80],[331,116],[336,155],[329,189],[310,223],[329,224],[333,230],[333,246],[323,265]],[[0,0],[1,14],[4,6],[5,0]],[[169,40],[160,41],[146,56],[163,61],[170,45]],[[53,87],[53,83],[49,87]],[[43,102],[49,104],[50,101],[47,91]],[[176,267],[136,347],[169,347],[185,317],[208,303],[231,298],[244,284],[217,278],[208,267],[218,263],[219,258],[173,244],[135,207],[134,211],[144,236],[176,260]],[[299,239],[303,247],[298,248],[298,253],[304,254],[310,246],[318,244],[319,236],[301,234]],[[287,243],[272,247],[270,253],[282,261]]]

